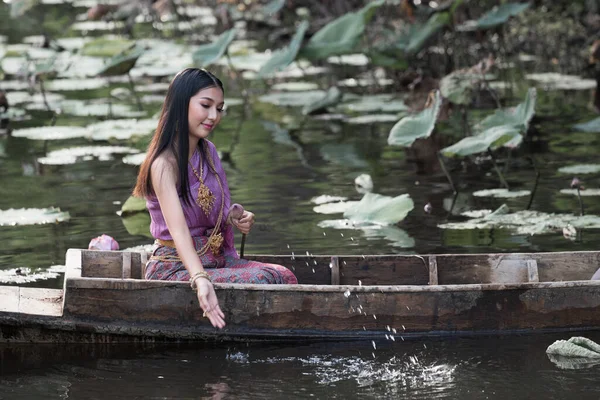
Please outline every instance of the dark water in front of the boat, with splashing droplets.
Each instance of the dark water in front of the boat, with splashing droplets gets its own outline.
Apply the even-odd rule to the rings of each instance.
[[[0,398],[598,398],[600,365],[561,369],[546,356],[565,337],[379,341],[377,350],[369,343],[11,346],[0,350]]]

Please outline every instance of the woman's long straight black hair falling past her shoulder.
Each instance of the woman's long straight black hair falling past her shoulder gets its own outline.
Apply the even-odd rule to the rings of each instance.
[[[218,87],[223,93],[225,92],[219,78],[205,69],[186,68],[175,75],[167,90],[158,127],[148,146],[146,159],[140,166],[137,183],[133,189],[134,196],[147,197],[154,194],[150,166],[163,151],[169,149],[177,159],[179,197],[189,203],[187,164],[190,146],[188,123],[190,98],[200,90],[211,87]],[[198,147],[200,151],[204,151],[203,139],[198,143]]]

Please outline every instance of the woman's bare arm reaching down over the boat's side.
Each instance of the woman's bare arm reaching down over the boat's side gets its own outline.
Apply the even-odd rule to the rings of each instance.
[[[192,235],[187,226],[179,195],[177,194],[177,167],[175,162],[161,155],[152,163],[150,174],[154,193],[158,198],[169,233],[175,242],[179,258],[181,258],[190,276],[194,276],[198,272],[203,272],[204,267],[196,253]],[[223,328],[225,326],[225,315],[219,307],[212,283],[203,277],[196,278],[195,283],[198,288],[197,293],[200,307],[204,310],[214,327]]]

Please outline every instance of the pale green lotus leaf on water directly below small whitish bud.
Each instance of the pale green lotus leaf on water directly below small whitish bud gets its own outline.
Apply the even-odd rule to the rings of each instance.
[[[415,208],[408,194],[396,197],[366,193],[358,204],[344,212],[344,217],[357,222],[393,225],[402,221]]]

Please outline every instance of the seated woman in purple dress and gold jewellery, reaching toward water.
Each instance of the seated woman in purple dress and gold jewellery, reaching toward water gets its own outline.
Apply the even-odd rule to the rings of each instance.
[[[221,121],[223,84],[203,69],[178,73],[140,167],[135,196],[145,197],[156,238],[146,279],[190,281],[204,316],[223,328],[212,282],[298,283],[287,268],[240,259],[235,225],[250,232],[254,214],[229,216],[231,199],[217,150],[206,138]]]

